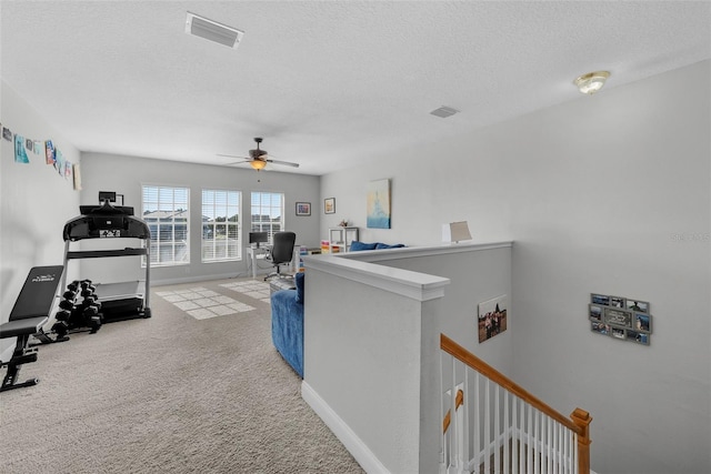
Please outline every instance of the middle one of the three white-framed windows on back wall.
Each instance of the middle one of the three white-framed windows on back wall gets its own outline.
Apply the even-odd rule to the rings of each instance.
[[[240,192],[202,190],[202,261],[242,258]]]

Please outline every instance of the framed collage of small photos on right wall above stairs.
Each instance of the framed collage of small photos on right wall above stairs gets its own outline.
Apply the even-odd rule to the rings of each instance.
[[[590,330],[597,334],[649,345],[652,315],[648,301],[590,293]]]

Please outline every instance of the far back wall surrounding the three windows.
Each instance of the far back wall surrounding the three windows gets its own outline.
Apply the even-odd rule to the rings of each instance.
[[[297,243],[319,246],[319,177],[290,174],[276,171],[257,172],[238,169],[201,165],[146,158],[112,155],[102,153],[82,154],[83,192],[82,204],[97,204],[99,191],[116,191],[123,194],[124,205],[133,206],[136,215],[141,214],[141,185],[171,185],[190,188],[190,264],[179,266],[151,268],[153,284],[197,281],[216,278],[247,275],[247,252],[242,261],[226,263],[200,262],[200,238],[202,235],[202,190],[228,189],[242,192],[242,229],[250,229],[250,193],[252,191],[283,192],[286,230],[297,233]],[[310,216],[297,216],[297,202],[311,202]],[[246,241],[244,246],[249,245]],[[112,259],[112,281],[131,281],[142,276],[133,259]],[[267,263],[260,265],[268,268]],[[100,269],[93,262],[82,262],[82,272],[99,275]],[[99,276],[100,279],[101,276]],[[107,276],[109,278],[109,276]],[[96,281],[94,278],[92,280]],[[109,282],[108,280],[106,282]]]

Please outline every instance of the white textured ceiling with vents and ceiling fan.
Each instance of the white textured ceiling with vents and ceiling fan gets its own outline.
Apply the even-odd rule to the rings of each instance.
[[[184,33],[186,12],[244,31]],[[8,1],[0,75],[81,151],[323,174],[711,58],[711,2]],[[448,105],[448,119],[429,112]],[[11,127],[11,124],[9,124]],[[244,167],[242,164],[242,167]]]

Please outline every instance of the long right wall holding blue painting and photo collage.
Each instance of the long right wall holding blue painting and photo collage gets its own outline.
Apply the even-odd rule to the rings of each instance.
[[[711,472],[710,65],[612,79],[597,95],[324,175],[337,213],[321,234],[348,218],[362,241],[431,244],[441,223],[468,220],[475,241],[513,240],[509,375],[560,411],[591,412],[597,472]],[[392,229],[363,229],[367,182],[383,178]],[[591,292],[649,301],[651,345],[591,333]]]

